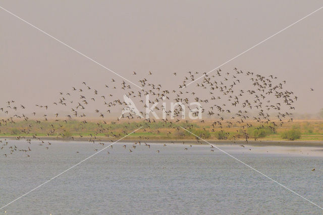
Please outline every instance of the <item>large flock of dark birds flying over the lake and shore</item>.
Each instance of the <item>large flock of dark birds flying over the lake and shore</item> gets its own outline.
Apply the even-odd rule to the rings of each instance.
[[[193,87],[193,85],[190,87],[187,86],[189,82],[196,80],[198,74],[198,72],[188,72],[187,76],[184,77],[184,80],[178,86],[178,89],[174,90],[162,88],[161,84],[152,83],[146,77],[139,79],[142,88],[140,90],[133,89],[134,87],[127,84],[125,81],[119,83],[120,85],[118,86],[118,82],[112,78],[111,82],[104,86],[106,91],[99,92],[99,90],[94,89],[84,81],[81,84],[82,87],[71,87],[69,92],[60,92],[59,99],[51,105],[35,105],[36,110],[34,110],[31,115],[18,113],[18,111],[23,112],[26,109],[25,105],[18,105],[14,100],[8,101],[6,106],[0,107],[0,111],[6,115],[6,117],[0,120],[0,127],[12,123],[14,124],[17,119],[25,120],[27,122],[35,121],[37,124],[40,124],[41,121],[55,120],[62,122],[63,124],[51,124],[50,129],[43,131],[43,133],[48,137],[64,137],[64,132],[58,131],[66,131],[65,128],[68,127],[68,122],[73,118],[78,119],[81,124],[86,124],[88,113],[86,111],[89,111],[92,107],[96,107],[93,108],[94,110],[92,111],[94,114],[97,114],[97,117],[102,118],[102,121],[97,123],[97,131],[90,134],[88,141],[93,144],[98,143],[104,146],[104,141],[97,137],[98,134],[107,134],[113,137],[113,139],[128,134],[129,128],[127,125],[123,127],[123,132],[118,135],[114,134],[109,127],[102,126],[104,124],[109,124],[109,122],[106,121],[113,108],[127,107],[128,104],[125,101],[115,98],[116,95],[113,95],[115,93],[118,94],[118,92],[120,94],[120,91],[122,91],[127,98],[137,101],[138,104],[142,105],[143,109],[147,107],[145,96],[149,95],[148,105],[157,103],[152,111],[159,114],[161,111],[166,113],[166,118],[160,119],[160,121],[168,127],[176,128],[178,131],[182,128],[180,128],[176,122],[185,121],[184,128],[187,130],[194,128],[194,125],[190,120],[183,119],[183,107],[188,108],[195,117],[198,116],[200,110],[202,116],[208,118],[208,120],[197,120],[203,124],[210,123],[211,129],[209,132],[215,132],[216,130],[222,131],[225,139],[229,136],[229,134],[224,131],[226,127],[230,128],[239,125],[244,140],[248,142],[249,134],[247,133],[247,129],[255,126],[253,125],[254,122],[257,124],[257,129],[269,126],[274,131],[277,126],[282,126],[285,121],[293,120],[291,111],[295,109],[293,104],[297,101],[297,97],[292,91],[288,91],[284,88],[286,81],[279,81],[278,78],[273,75],[265,77],[260,74],[243,72],[242,70],[234,68],[231,72],[223,72],[221,69],[218,69],[214,75],[203,73],[203,78],[196,82],[196,87]],[[137,73],[133,72],[133,75],[136,76]],[[148,77],[151,75],[153,74],[149,72]],[[177,73],[173,73],[173,75],[177,76]],[[313,89],[311,89],[311,91],[313,91]],[[166,109],[165,103],[159,104],[162,101],[177,102],[183,104],[183,106],[178,105],[175,107],[174,111],[171,111]],[[196,102],[200,105],[192,110],[190,106],[191,102]],[[61,116],[59,113],[50,113],[49,111],[51,111],[52,106],[61,106],[62,109],[68,109],[70,114]],[[45,112],[45,114],[42,114],[41,118],[38,117],[34,119],[38,112]],[[271,113],[275,113],[275,116],[271,116]],[[140,114],[144,115],[143,111],[140,111]],[[149,117],[142,118],[131,111],[122,114],[121,117],[116,120],[119,121],[123,119],[128,120],[128,124],[130,120],[142,120],[137,124],[137,127],[144,126],[144,128],[142,128],[144,131],[149,130],[151,123],[159,121]],[[110,123],[115,124],[117,122],[114,120]],[[17,141],[24,140],[26,142],[25,148],[20,149],[15,145],[8,145],[8,140],[4,139],[0,140],[0,143],[2,144],[0,149],[3,150],[7,147],[9,149],[9,154],[20,151],[27,153],[27,156],[29,156],[28,152],[31,151],[30,147],[32,141],[36,141],[39,145],[44,146],[45,149],[49,149],[51,143],[46,141],[45,137],[37,137],[36,134],[33,133],[33,126],[35,126],[33,123],[27,123],[26,127],[21,129],[21,133],[25,134],[25,136],[16,137]],[[206,128],[203,127],[203,130],[206,130]],[[153,132],[157,134],[159,131]],[[187,135],[188,133],[185,133],[183,130],[183,138],[187,137]],[[74,140],[75,137],[70,138]],[[201,138],[205,137],[201,135]],[[234,138],[236,137],[234,136]],[[128,148],[130,152],[133,152],[136,147],[140,145],[150,148],[149,144],[142,143],[148,141],[149,138],[140,137],[140,139],[140,141],[133,144],[131,149]],[[110,140],[110,142],[113,142],[113,140]],[[165,146],[166,144],[164,144],[164,147]],[[111,146],[111,149],[112,148],[113,146]],[[126,145],[124,148],[126,149]],[[184,149],[187,150],[188,148]],[[213,149],[211,149],[211,151],[212,150]],[[157,150],[156,152],[159,153],[160,151]],[[9,154],[6,153],[4,155],[7,157]]]

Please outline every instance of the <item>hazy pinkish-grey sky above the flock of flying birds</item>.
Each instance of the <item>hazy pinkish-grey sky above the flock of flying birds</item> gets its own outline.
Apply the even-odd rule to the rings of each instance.
[[[133,71],[140,77],[151,71],[154,82],[171,90],[188,71],[218,67],[323,3],[40,0],[0,6],[135,83]],[[274,74],[299,97],[296,112],[316,113],[323,108],[322,20],[323,9],[222,69]],[[50,104],[82,81],[104,86],[118,79],[2,9],[0,23],[1,103]]]

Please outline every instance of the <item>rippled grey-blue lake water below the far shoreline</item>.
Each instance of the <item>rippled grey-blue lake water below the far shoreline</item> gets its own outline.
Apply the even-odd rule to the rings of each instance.
[[[0,214],[5,210],[6,214],[52,215],[323,213],[223,152],[210,151],[208,145],[166,144],[134,149],[132,143],[116,143]],[[23,141],[9,145],[28,147]],[[323,152],[317,147],[307,149],[309,155],[293,147],[219,147],[323,206]],[[102,148],[88,142],[52,141],[45,150],[32,143],[30,157],[18,152],[7,158],[5,149],[0,150],[0,207]]]

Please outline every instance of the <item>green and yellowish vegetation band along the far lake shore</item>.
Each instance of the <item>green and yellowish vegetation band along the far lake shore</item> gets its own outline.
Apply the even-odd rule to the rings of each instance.
[[[199,121],[180,122],[146,122],[146,121],[78,121],[57,120],[41,121],[21,120],[0,124],[0,137],[49,137],[86,140],[94,138],[116,140],[124,137],[143,126],[136,133],[126,139],[142,140],[194,140],[194,135],[208,140],[244,140],[245,136],[254,140],[301,140],[301,141],[323,141],[323,120],[286,122],[283,126],[276,126],[279,122],[260,124],[252,123],[253,126],[245,126],[245,131],[238,123],[223,122],[222,127],[211,126],[210,121],[205,123]]]

